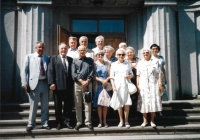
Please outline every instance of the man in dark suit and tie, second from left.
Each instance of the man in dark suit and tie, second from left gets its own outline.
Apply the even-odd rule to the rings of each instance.
[[[53,90],[56,129],[59,130],[65,125],[73,129],[70,125],[73,101],[73,79],[71,76],[72,58],[67,56],[68,46],[65,43],[59,45],[59,55],[54,55],[50,59],[48,68],[48,84]],[[62,119],[62,101],[64,110]]]

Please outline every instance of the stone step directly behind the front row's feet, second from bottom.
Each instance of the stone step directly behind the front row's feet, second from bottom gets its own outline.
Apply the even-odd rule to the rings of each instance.
[[[150,120],[150,117],[148,117],[148,120]],[[71,120],[72,125],[75,126],[76,119]],[[199,124],[200,123],[200,116],[191,116],[191,117],[183,117],[183,116],[165,116],[165,117],[155,117],[155,122],[157,125],[181,125],[181,124]],[[20,120],[0,120],[0,129],[2,128],[21,128],[26,127],[28,123],[28,119],[20,119]],[[94,126],[97,126],[99,123],[99,120],[96,118],[92,118],[92,124]],[[107,124],[109,126],[117,126],[119,123],[119,118],[113,118],[113,119],[107,119]],[[142,123],[142,117],[141,118],[130,118],[129,123],[131,126],[140,126]],[[49,125],[51,127],[56,127],[56,121],[55,118],[49,119]],[[41,126],[40,119],[36,120],[36,126]]]

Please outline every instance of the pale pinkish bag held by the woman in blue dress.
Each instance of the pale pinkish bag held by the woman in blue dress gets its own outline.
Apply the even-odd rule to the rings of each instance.
[[[107,106],[107,107],[109,107],[110,105],[110,96],[108,95],[107,91],[104,88],[99,94],[97,104],[101,106]]]

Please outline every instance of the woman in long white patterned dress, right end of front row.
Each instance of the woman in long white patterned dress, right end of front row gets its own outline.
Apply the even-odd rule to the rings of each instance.
[[[154,123],[155,112],[162,111],[160,91],[162,92],[161,70],[158,60],[151,60],[151,50],[142,49],[143,60],[137,67],[137,87],[139,90],[137,110],[143,114],[142,127],[147,123],[147,113],[151,113],[151,126]]]

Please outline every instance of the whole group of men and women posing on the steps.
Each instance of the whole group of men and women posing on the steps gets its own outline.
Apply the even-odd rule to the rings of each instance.
[[[150,48],[143,48],[143,59],[139,59],[135,56],[134,48],[127,47],[124,42],[119,44],[116,52],[112,46],[104,46],[103,36],[96,37],[95,42],[97,46],[90,50],[87,48],[86,36],[79,38],[79,47],[77,38],[69,37],[68,45],[60,43],[59,54],[51,57],[44,54],[45,44],[37,42],[36,52],[25,57],[21,80],[30,102],[27,132],[36,125],[39,99],[42,128],[51,129],[48,125],[49,89],[53,91],[57,130],[63,127],[79,130],[83,126],[82,104],[85,112],[84,124],[89,129],[93,129],[92,106],[97,108],[98,127],[107,128],[108,107],[98,104],[99,95],[105,89],[110,98],[115,97],[118,102],[118,127],[130,128],[130,109],[135,117],[137,111],[143,114],[142,127],[148,124],[147,113],[151,113],[150,125],[156,127],[155,112],[161,114],[162,100],[168,100],[165,61],[158,54],[160,47],[153,44]],[[129,93],[128,81],[137,87],[137,92],[133,95]],[[86,100],[86,92],[92,93],[89,95],[92,102]],[[73,105],[77,120],[75,127],[71,125]]]

